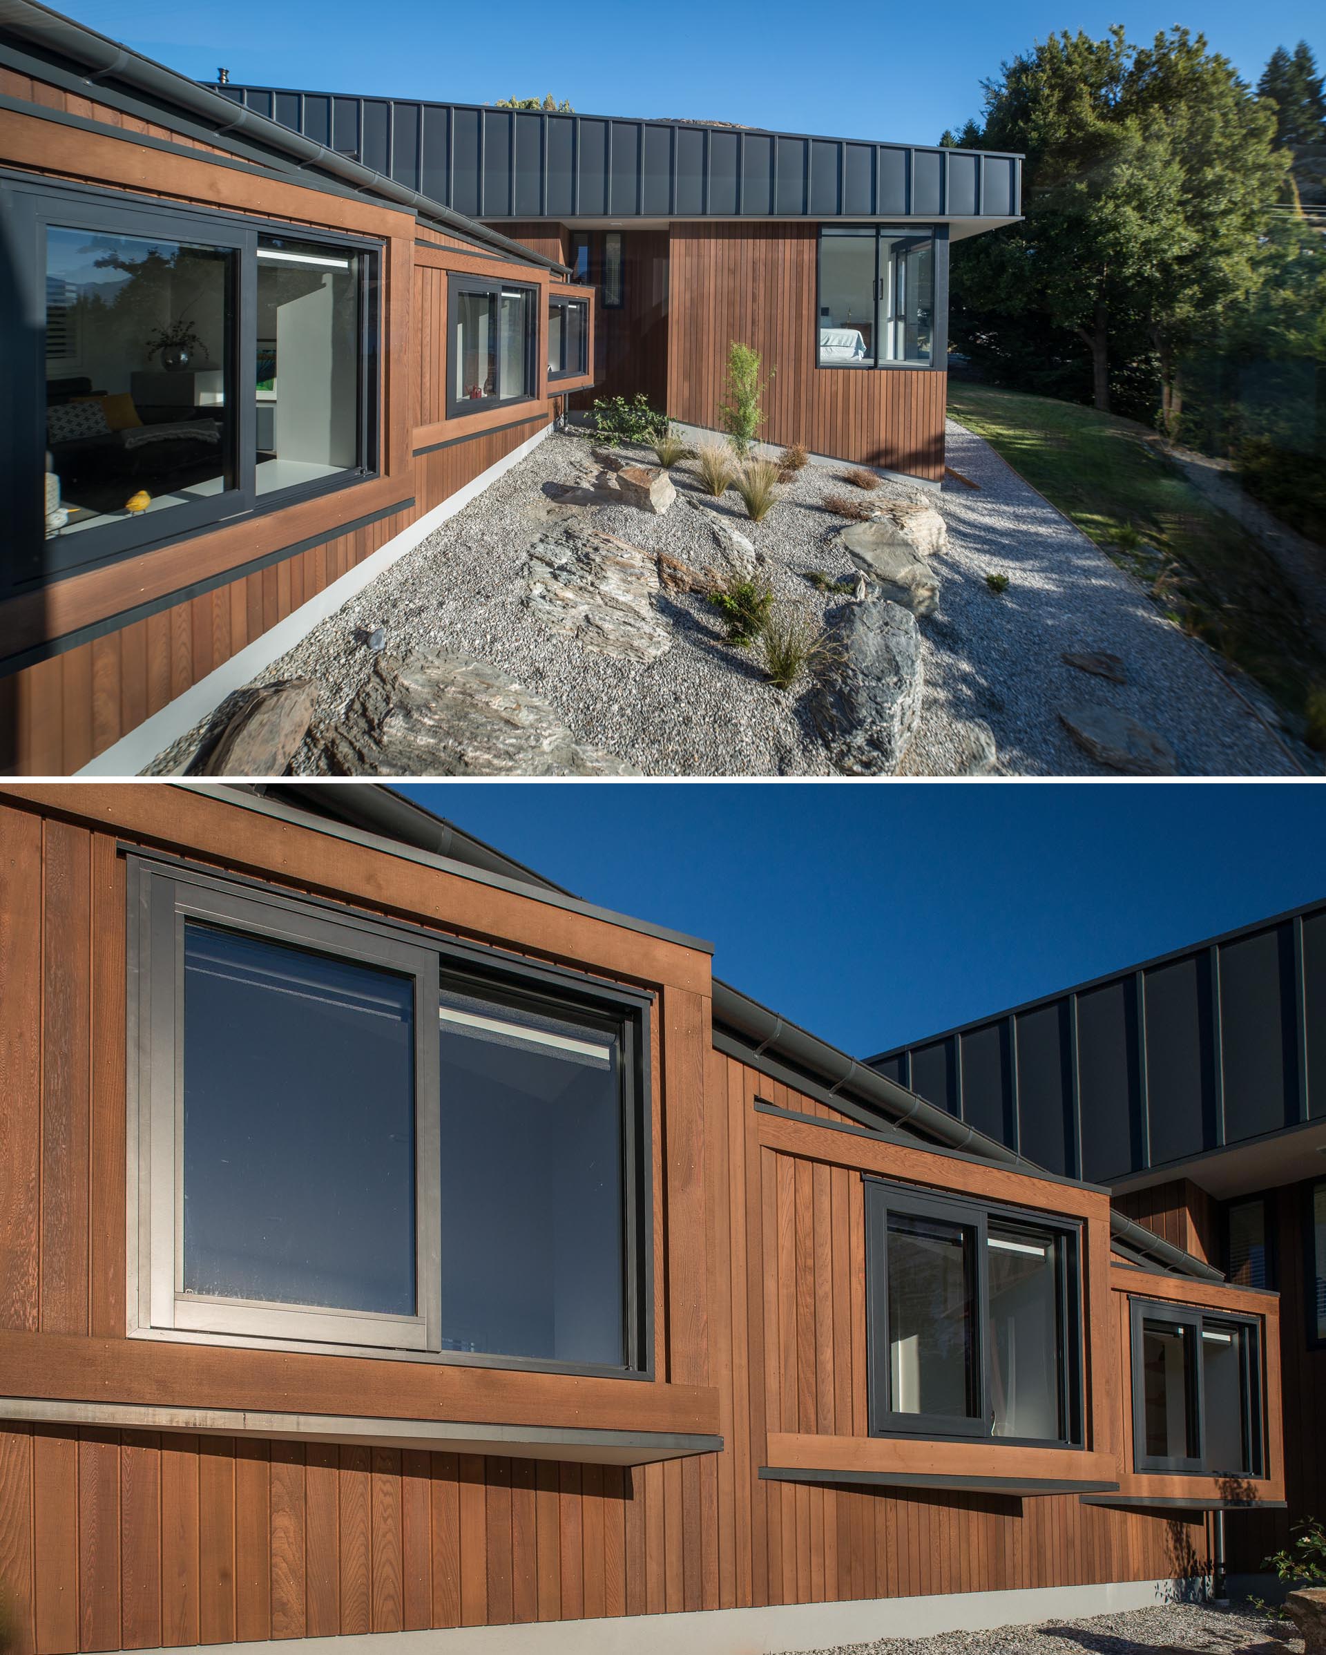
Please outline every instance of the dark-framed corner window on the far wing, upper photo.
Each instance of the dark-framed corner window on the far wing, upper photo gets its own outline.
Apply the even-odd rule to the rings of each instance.
[[[942,232],[819,233],[821,367],[942,367]]]

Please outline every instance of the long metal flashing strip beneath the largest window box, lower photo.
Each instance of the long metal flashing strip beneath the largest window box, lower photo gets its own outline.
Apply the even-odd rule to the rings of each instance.
[[[684,1432],[608,1432],[555,1425],[470,1425],[454,1420],[396,1420],[338,1413],[265,1413],[250,1408],[189,1408],[132,1402],[56,1402],[0,1397],[0,1418],[43,1425],[88,1425],[142,1432],[197,1432],[202,1437],[275,1437],[305,1443],[372,1443],[374,1448],[505,1455],[520,1460],[576,1460],[589,1465],[654,1465],[720,1453],[722,1437]]]

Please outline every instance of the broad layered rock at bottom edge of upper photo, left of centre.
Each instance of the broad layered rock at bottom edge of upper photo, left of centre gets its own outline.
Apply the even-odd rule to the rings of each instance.
[[[321,740],[333,776],[637,776],[579,745],[561,715],[472,655],[379,655]]]

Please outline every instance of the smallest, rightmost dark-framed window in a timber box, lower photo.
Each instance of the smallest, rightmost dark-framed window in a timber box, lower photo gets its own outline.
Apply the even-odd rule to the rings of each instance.
[[[1139,1471],[1261,1476],[1261,1341],[1250,1317],[1132,1301]]]

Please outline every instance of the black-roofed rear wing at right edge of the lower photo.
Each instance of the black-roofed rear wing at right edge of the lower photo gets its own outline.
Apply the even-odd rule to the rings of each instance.
[[[1230,1283],[1278,1291],[1288,1509],[1326,1516],[1326,902],[869,1059],[954,1122],[1111,1192]]]

